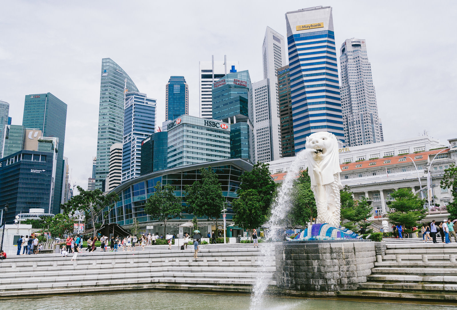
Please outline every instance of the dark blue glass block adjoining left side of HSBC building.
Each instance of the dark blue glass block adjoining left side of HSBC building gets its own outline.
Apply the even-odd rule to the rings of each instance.
[[[141,142],[141,175],[167,168],[168,131],[155,132]]]

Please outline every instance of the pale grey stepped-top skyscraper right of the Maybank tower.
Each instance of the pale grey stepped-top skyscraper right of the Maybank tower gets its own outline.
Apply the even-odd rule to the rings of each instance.
[[[364,39],[348,39],[340,47],[341,105],[347,147],[383,142],[371,63]]]

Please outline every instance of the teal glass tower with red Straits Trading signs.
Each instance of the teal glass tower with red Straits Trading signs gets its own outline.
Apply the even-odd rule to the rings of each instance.
[[[243,158],[255,163],[254,108],[249,71],[227,74],[214,82],[212,90],[213,118],[232,124],[230,158]]]

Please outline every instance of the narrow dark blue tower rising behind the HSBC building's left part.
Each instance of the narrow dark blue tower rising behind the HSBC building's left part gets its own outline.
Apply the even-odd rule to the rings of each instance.
[[[183,76],[170,76],[165,85],[165,121],[181,115],[189,115],[189,86]]]

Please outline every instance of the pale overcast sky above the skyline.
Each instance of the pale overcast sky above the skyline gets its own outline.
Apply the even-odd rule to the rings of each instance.
[[[253,82],[263,79],[266,26],[286,36],[284,14],[317,5],[333,7],[337,51],[346,38],[367,42],[384,141],[424,130],[446,144],[457,137],[456,1],[0,4],[0,100],[10,103],[14,125],[22,124],[27,94],[51,92],[68,105],[64,156],[83,188],[96,156],[102,58],[112,58],[139,91],[157,99],[161,126],[170,75],[184,75],[190,114],[198,116],[199,61],[227,55]]]

